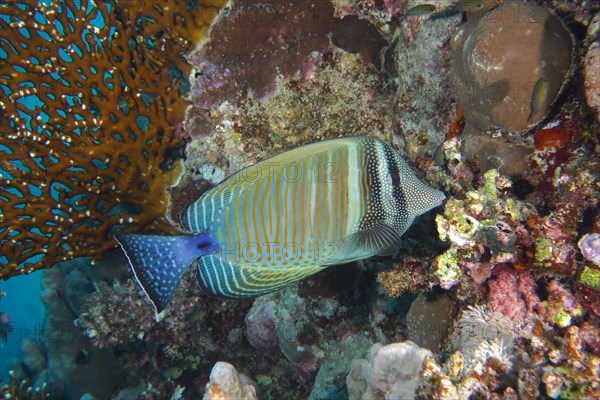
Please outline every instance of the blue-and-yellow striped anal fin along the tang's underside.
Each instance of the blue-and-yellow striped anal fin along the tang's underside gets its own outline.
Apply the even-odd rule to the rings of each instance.
[[[226,298],[256,297],[281,289],[325,267],[247,267],[216,255],[198,261],[198,283],[208,294]]]

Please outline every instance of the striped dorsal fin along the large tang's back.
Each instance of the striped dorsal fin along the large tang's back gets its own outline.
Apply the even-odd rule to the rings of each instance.
[[[204,232],[221,214],[222,210],[246,190],[272,177],[281,170],[289,168],[290,174],[299,173],[295,168],[297,163],[316,154],[335,151],[346,146],[356,146],[364,138],[340,138],[300,146],[286,151],[257,164],[246,167],[229,176],[217,186],[205,192],[198,200],[190,204],[182,215],[183,225],[191,232]],[[285,171],[287,172],[287,171]]]

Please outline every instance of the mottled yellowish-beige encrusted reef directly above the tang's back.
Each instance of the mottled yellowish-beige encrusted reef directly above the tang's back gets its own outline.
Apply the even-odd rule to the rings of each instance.
[[[187,131],[195,138],[186,150],[184,182],[218,183],[276,152],[341,134],[392,135],[391,91],[374,67],[335,47],[311,57],[310,76],[280,77],[268,99],[223,101],[208,120],[191,107]],[[202,128],[199,121],[209,124]]]

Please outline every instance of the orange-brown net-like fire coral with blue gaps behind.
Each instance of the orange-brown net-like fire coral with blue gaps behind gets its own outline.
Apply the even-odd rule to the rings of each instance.
[[[182,53],[222,3],[0,3],[0,278],[169,229]]]

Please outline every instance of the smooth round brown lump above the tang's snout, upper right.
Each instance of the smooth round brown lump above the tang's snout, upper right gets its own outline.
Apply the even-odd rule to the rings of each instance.
[[[565,86],[573,38],[549,9],[506,1],[462,25],[451,41],[454,96],[478,130],[524,130],[548,114]],[[536,83],[547,82],[532,108]]]

